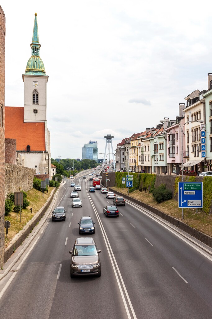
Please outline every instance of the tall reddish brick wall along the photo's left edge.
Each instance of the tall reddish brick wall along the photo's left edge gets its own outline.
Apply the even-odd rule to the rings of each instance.
[[[0,6],[0,267],[4,263],[4,194],[5,194],[5,160],[4,160],[4,75],[5,75],[5,15]]]

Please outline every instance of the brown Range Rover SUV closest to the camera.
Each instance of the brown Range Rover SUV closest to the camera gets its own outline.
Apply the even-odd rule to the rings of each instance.
[[[101,276],[101,263],[95,241],[91,237],[80,237],[74,242],[69,251],[71,257],[71,278],[74,276],[96,275]]]

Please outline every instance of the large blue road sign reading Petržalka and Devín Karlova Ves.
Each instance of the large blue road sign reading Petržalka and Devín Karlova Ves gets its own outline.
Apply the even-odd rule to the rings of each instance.
[[[178,182],[178,207],[202,208],[202,182]]]

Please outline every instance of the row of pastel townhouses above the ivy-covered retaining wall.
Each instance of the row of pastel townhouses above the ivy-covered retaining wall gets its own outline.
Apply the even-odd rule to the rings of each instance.
[[[212,73],[208,90],[195,90],[179,104],[175,120],[159,119],[156,128],[146,128],[124,138],[116,148],[116,170],[155,174],[197,174],[212,166]]]

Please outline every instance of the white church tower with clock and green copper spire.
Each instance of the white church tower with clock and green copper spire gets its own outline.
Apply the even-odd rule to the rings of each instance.
[[[24,82],[24,122],[46,121],[46,75],[44,63],[40,58],[37,13],[31,43],[31,58],[22,75]]]

